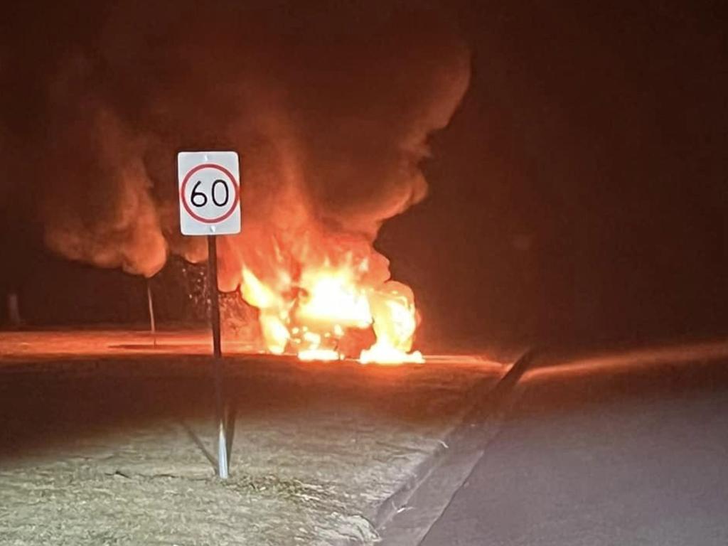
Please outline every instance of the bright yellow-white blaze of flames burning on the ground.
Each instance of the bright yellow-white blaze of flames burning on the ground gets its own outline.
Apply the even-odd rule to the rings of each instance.
[[[381,282],[382,271],[388,276],[386,258],[371,246],[369,253],[356,257],[349,250],[335,261],[304,248],[305,263],[291,266],[275,245],[268,255],[275,257],[274,266],[260,268],[266,274],[243,266],[240,293],[258,308],[267,350],[301,360],[358,356],[363,364],[424,362],[419,351],[411,352],[419,324],[411,288]]]

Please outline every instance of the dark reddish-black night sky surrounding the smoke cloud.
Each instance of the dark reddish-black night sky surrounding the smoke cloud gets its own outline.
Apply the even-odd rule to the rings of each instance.
[[[429,197],[376,243],[414,288],[424,347],[728,333],[724,4],[446,4],[470,88],[431,138]],[[0,41],[2,291],[32,324],[142,321],[141,277],[44,250],[25,183],[53,167],[44,74],[95,12],[17,9]],[[189,319],[180,264],[154,280],[163,319]]]

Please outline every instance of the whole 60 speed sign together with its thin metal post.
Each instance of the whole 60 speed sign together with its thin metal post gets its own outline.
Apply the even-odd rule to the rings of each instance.
[[[218,296],[218,235],[240,233],[240,164],[234,151],[181,151],[177,155],[180,229],[183,235],[207,237],[207,286],[213,329],[215,418],[218,438],[218,476],[229,475],[226,403]]]

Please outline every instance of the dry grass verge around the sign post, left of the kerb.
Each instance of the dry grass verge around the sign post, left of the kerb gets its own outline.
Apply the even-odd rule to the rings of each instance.
[[[506,368],[228,357],[221,481],[204,351],[94,336],[84,358],[85,341],[0,341],[1,545],[373,544],[381,503]]]

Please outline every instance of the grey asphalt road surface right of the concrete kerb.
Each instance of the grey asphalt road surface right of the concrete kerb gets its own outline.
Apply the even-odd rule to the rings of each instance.
[[[721,353],[646,351],[527,374],[422,545],[728,545]]]

